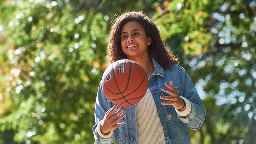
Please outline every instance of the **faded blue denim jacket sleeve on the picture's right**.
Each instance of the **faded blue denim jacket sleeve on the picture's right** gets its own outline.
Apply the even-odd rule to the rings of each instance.
[[[193,85],[186,70],[181,67],[180,70],[181,84],[183,97],[189,100],[191,104],[191,111],[187,116],[181,116],[178,114],[178,118],[186,123],[192,129],[199,129],[206,116],[206,111],[203,105],[203,101],[200,99],[195,86]]]

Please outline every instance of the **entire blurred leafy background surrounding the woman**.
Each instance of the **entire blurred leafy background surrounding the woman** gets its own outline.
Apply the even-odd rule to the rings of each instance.
[[[115,14],[143,10],[206,120],[193,144],[256,143],[256,1],[1,0],[0,144],[92,144]]]

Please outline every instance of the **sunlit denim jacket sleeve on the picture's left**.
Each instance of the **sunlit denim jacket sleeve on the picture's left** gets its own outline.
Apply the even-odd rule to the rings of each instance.
[[[108,109],[109,109],[108,101],[102,91],[101,83],[100,83],[97,97],[96,97],[96,102],[95,102],[95,110],[94,110],[95,125],[93,126],[93,133],[94,133],[95,144],[111,144],[115,141],[114,133],[108,138],[103,138],[99,135],[98,129],[97,129],[97,125],[99,121],[104,118],[105,113],[108,111]]]

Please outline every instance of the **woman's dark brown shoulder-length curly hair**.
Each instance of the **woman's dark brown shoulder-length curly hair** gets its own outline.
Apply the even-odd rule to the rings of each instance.
[[[123,13],[121,16],[112,20],[112,27],[110,31],[110,38],[107,48],[108,65],[120,60],[127,59],[127,55],[122,51],[121,47],[121,29],[129,21],[139,22],[145,32],[146,36],[151,38],[151,45],[148,46],[149,56],[155,59],[164,69],[168,69],[170,64],[179,64],[172,52],[163,44],[160,37],[160,31],[156,24],[142,11],[131,11]]]

